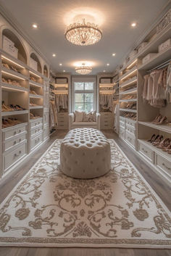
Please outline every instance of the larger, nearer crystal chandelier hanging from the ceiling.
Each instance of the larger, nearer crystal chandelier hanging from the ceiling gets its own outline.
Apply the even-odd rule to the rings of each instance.
[[[72,44],[88,46],[96,44],[101,40],[102,32],[96,24],[86,22],[86,20],[83,19],[82,22],[70,24],[64,36]]]

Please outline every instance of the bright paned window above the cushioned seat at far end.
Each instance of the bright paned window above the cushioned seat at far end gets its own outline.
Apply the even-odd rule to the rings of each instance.
[[[74,82],[74,110],[95,110],[94,82]]]

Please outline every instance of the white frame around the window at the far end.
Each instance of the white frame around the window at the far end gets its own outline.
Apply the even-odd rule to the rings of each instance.
[[[93,83],[93,90],[76,90],[75,83]],[[96,110],[96,76],[91,77],[72,77],[72,111],[75,111],[75,93],[92,93],[93,92],[93,110]]]

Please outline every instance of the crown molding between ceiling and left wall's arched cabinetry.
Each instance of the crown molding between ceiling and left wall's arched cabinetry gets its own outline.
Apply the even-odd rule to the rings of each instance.
[[[25,41],[27,41],[28,44],[30,44],[30,46],[47,62],[47,64],[51,65],[51,62],[42,53],[40,47],[38,47],[38,45],[36,45],[33,38],[30,38],[30,36],[28,36],[28,34],[22,28],[22,25],[20,25],[20,23],[17,22],[17,20],[12,15],[12,13],[9,12],[9,10],[7,10],[7,8],[5,8],[2,4],[0,4],[0,14],[2,15],[2,17],[4,17],[5,20],[7,20],[7,22],[9,22],[9,25],[11,25],[12,28],[14,28],[14,30],[16,30],[17,33],[19,33],[20,36],[22,36],[22,38],[24,38]]]

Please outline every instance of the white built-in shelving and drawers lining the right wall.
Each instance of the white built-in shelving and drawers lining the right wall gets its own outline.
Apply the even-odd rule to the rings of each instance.
[[[170,11],[171,12],[171,11]],[[144,48],[139,51],[122,69],[120,69],[120,132],[119,136],[135,152],[149,163],[151,168],[167,181],[171,181],[171,154],[153,146],[148,140],[153,134],[163,135],[171,139],[170,125],[152,123],[157,115],[167,116],[171,122],[171,104],[165,107],[152,107],[142,99],[143,76],[151,69],[171,60],[171,46],[158,52],[159,45],[171,37],[171,24],[159,31]],[[163,23],[167,24],[167,22]],[[143,63],[142,59],[149,53],[155,53],[151,59]],[[128,98],[128,99],[125,99]],[[128,104],[135,103],[136,107],[129,109]],[[127,113],[130,114],[130,118]],[[132,117],[131,114],[136,115]],[[126,115],[126,117],[125,117]]]

